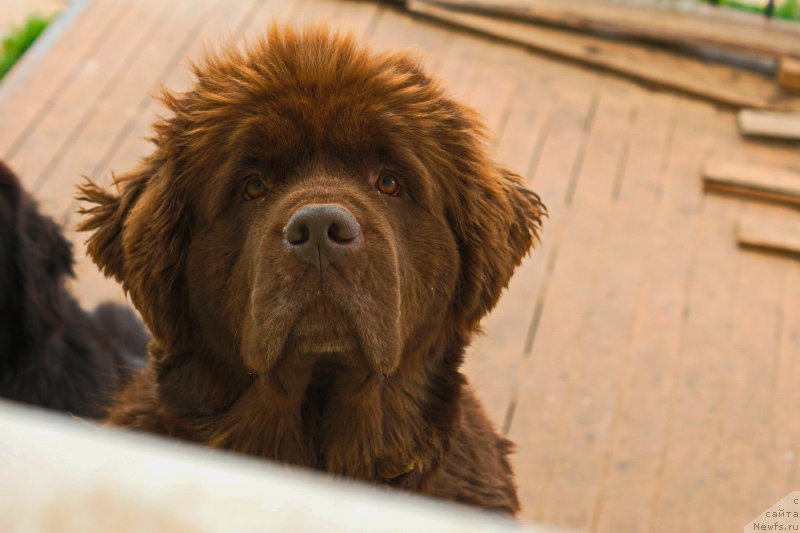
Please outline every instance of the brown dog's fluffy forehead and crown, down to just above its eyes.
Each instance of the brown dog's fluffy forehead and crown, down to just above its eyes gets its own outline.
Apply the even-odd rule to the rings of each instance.
[[[454,199],[482,164],[480,121],[402,53],[372,54],[329,35],[273,35],[215,61],[174,109],[185,175],[220,178],[205,182],[221,193],[251,162],[289,176],[324,157],[351,171],[397,165],[425,197]]]

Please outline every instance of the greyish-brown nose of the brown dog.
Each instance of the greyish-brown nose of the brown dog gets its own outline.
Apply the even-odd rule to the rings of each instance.
[[[309,204],[294,212],[283,238],[295,257],[322,270],[361,244],[361,226],[340,205]]]

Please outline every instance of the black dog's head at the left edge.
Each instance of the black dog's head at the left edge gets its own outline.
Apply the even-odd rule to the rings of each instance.
[[[72,249],[0,162],[0,353],[46,340],[63,324]]]

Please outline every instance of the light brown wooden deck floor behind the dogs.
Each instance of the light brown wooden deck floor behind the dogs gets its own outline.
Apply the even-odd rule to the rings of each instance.
[[[274,18],[416,47],[547,203],[466,369],[517,443],[524,517],[738,531],[800,489],[800,263],[734,239],[740,215],[789,210],[700,180],[710,157],[798,168],[800,151],[743,140],[730,111],[370,2],[79,0],[0,84],[0,157],[72,228],[75,182],[148,152],[151,95],[188,86],[184,58]],[[71,235],[82,301],[122,298]]]

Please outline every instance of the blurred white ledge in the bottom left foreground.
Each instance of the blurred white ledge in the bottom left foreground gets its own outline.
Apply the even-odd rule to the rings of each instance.
[[[0,402],[0,531],[553,531]]]

